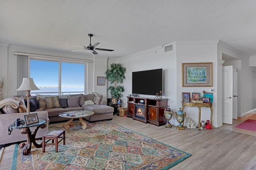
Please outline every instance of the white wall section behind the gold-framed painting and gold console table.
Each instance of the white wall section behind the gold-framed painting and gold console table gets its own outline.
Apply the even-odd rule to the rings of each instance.
[[[177,106],[181,107],[180,101],[182,101],[182,92],[192,93],[192,89],[196,89],[196,92],[202,94],[205,90],[209,92],[209,89],[214,89],[213,93],[213,118],[212,124],[214,127],[222,125],[221,112],[218,112],[218,62],[217,62],[217,43],[218,40],[213,41],[178,41],[176,44],[176,57],[177,57]],[[212,63],[212,87],[182,87],[182,63]],[[177,109],[178,109],[177,107]],[[190,117],[198,124],[198,107],[185,107],[186,117]],[[201,120],[210,120],[210,108],[201,107]],[[185,122],[186,123],[186,122]]]

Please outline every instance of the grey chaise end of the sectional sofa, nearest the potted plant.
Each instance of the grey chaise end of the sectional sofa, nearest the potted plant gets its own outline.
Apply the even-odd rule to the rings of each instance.
[[[98,104],[84,105],[82,107],[84,108],[84,110],[90,110],[94,112],[93,115],[83,118],[89,122],[113,119],[113,107]]]

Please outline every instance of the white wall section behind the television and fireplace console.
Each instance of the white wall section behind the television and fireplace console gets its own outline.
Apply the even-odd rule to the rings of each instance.
[[[149,51],[119,58],[118,61],[126,68],[126,78],[124,80],[123,106],[127,107],[128,94],[132,94],[132,72],[142,70],[163,69],[163,98],[168,98],[170,108],[176,108],[176,58],[174,51],[164,53],[164,49],[156,47]],[[152,80],[154,81],[154,80]],[[140,97],[150,97],[151,95],[140,95]]]

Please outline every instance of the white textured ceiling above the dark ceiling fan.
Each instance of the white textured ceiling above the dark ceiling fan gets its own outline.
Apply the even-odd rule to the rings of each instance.
[[[220,39],[256,55],[255,0],[0,0],[0,42],[123,57],[173,41]],[[76,51],[88,55],[86,50]],[[92,55],[92,53],[89,53]]]

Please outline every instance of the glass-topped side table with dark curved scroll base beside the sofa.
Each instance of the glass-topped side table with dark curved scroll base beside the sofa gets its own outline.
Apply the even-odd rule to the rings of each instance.
[[[30,131],[30,127],[35,127],[34,131]],[[23,155],[30,154],[31,144],[33,143],[36,148],[42,148],[42,143],[36,143],[36,133],[39,128],[44,129],[46,127],[45,120],[39,119],[39,123],[32,125],[22,124],[20,126],[15,126],[15,123],[12,123],[9,126],[9,129],[20,129],[22,134],[27,134],[28,140],[26,142],[20,143],[19,148],[22,149]]]

